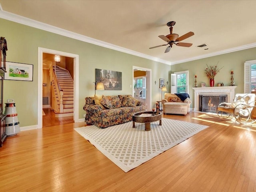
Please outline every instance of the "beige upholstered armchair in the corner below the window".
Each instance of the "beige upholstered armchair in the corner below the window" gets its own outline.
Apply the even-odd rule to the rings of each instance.
[[[186,115],[190,112],[190,104],[189,98],[182,101],[176,94],[165,93],[162,100],[163,113]]]

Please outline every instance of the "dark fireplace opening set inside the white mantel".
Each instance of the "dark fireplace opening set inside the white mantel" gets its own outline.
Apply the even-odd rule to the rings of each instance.
[[[199,95],[199,111],[216,113],[222,102],[227,102],[228,95]]]

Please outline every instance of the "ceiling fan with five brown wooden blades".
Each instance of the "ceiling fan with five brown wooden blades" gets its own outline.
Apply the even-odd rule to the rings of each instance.
[[[191,37],[192,35],[194,35],[194,32],[190,31],[190,32],[188,32],[188,33],[186,33],[186,34],[184,34],[184,35],[179,37],[178,34],[172,33],[172,26],[174,26],[175,24],[176,24],[175,21],[168,22],[167,26],[170,27],[170,34],[166,35],[166,36],[164,36],[164,35],[158,36],[162,40],[166,41],[167,44],[150,47],[150,49],[169,45],[166,48],[166,50],[165,50],[165,53],[167,53],[167,52],[169,52],[171,50],[173,44],[176,44],[177,46],[182,46],[182,47],[190,47],[190,46],[192,46],[192,43],[180,43],[180,41],[182,41],[182,40],[184,40],[186,38]]]

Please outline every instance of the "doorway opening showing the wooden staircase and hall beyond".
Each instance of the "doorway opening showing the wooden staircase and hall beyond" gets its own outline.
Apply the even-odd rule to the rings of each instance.
[[[74,58],[55,56],[43,53],[43,127],[74,122]]]

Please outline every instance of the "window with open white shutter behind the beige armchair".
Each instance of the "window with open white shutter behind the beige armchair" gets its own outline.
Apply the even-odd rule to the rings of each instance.
[[[188,93],[188,71],[171,74],[171,93]]]

